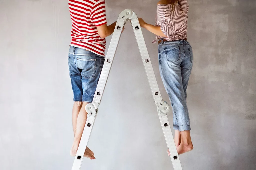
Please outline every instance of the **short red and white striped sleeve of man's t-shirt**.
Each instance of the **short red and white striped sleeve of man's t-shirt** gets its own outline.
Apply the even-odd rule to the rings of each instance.
[[[95,3],[92,7],[91,17],[97,27],[107,23],[105,0]]]

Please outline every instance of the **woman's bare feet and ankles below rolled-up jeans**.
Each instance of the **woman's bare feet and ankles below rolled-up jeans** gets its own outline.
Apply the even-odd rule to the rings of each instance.
[[[176,145],[178,154],[180,155],[180,154],[183,154],[183,153],[193,150],[194,146],[191,141],[190,130],[182,131],[179,133],[177,133],[176,131],[178,131],[178,130],[175,130],[174,141],[175,141],[175,145]],[[179,145],[177,146],[177,144],[179,144]],[[168,155],[170,155],[169,150],[167,150],[167,153],[168,153]]]

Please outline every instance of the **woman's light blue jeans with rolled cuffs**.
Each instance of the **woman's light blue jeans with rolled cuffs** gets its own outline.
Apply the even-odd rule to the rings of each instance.
[[[185,40],[158,45],[161,77],[173,108],[174,130],[191,130],[187,107],[188,80],[193,67],[193,50]]]

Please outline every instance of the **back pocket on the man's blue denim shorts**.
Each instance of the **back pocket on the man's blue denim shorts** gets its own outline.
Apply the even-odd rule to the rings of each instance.
[[[82,70],[81,75],[85,79],[91,79],[95,77],[95,73],[97,69],[97,59],[77,58],[77,65],[78,65],[78,68]]]

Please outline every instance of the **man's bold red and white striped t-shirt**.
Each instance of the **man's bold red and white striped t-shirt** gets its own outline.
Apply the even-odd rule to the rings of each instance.
[[[105,56],[106,39],[97,27],[107,23],[105,0],[69,0],[72,20],[71,44]]]

